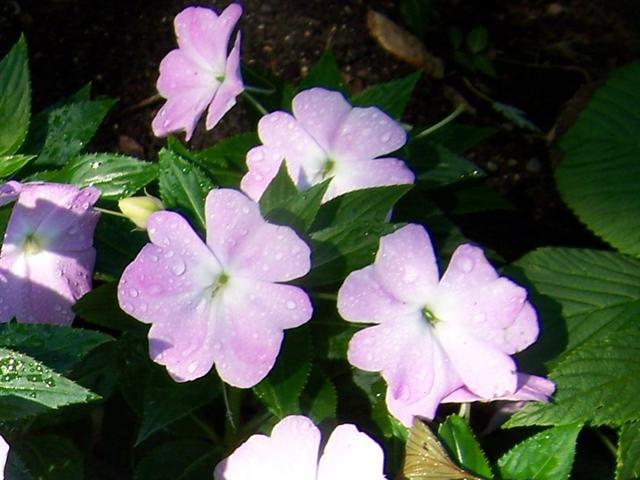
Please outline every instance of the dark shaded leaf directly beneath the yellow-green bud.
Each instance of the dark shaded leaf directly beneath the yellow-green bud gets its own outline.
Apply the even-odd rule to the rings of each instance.
[[[147,232],[134,230],[133,222],[113,215],[102,215],[96,227],[96,272],[119,278],[123,270],[149,241]]]

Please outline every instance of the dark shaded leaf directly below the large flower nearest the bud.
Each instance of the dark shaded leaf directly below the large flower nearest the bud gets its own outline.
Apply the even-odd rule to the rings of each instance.
[[[220,393],[220,381],[216,375],[178,383],[164,369],[154,368],[144,389],[142,421],[136,444],[209,403]]]

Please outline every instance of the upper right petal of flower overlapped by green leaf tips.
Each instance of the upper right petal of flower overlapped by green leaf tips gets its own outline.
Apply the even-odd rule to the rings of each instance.
[[[331,153],[341,161],[370,160],[402,147],[407,134],[376,107],[356,107],[349,112],[333,140]]]

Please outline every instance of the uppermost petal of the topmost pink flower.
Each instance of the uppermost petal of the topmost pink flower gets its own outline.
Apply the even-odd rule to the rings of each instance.
[[[203,66],[222,74],[229,38],[241,14],[237,3],[230,4],[219,17],[208,8],[185,8],[174,20],[178,45]]]

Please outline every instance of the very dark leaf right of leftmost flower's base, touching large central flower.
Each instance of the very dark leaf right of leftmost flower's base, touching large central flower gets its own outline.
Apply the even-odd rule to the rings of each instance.
[[[73,311],[83,320],[113,330],[135,330],[143,328],[118,307],[117,282],[105,283],[92,289],[73,306]]]

